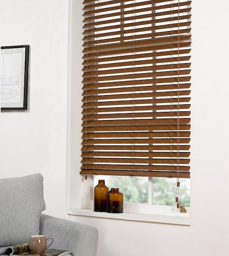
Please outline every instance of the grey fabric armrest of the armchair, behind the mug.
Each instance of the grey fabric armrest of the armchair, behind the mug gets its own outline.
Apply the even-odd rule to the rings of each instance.
[[[42,214],[40,234],[53,238],[50,248],[70,250],[73,256],[96,256],[95,227]]]

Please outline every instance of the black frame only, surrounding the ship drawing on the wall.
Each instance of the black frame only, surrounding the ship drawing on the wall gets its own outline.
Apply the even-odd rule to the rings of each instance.
[[[25,48],[24,56],[24,94],[23,94],[23,106],[22,107],[2,107],[1,110],[27,110],[27,100],[28,100],[28,65],[29,65],[29,54],[30,45],[14,45],[14,46],[2,46],[2,49],[16,49]],[[2,102],[1,102],[2,105]]]

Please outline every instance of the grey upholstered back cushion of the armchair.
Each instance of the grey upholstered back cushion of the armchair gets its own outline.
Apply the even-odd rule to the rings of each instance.
[[[45,210],[41,174],[0,180],[0,247],[28,242],[40,233]]]

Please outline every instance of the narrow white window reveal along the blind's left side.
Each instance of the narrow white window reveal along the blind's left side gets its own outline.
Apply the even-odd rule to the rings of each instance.
[[[68,89],[68,138],[67,180],[68,208],[82,208],[83,177],[81,166],[81,105],[82,105],[82,3],[71,0],[69,5],[69,89]]]

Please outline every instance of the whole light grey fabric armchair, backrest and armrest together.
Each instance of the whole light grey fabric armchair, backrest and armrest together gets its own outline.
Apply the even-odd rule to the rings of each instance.
[[[70,250],[73,256],[96,256],[94,227],[41,214],[42,175],[1,179],[0,202],[0,247],[27,243],[30,236],[40,234],[53,238],[51,248]]]

